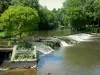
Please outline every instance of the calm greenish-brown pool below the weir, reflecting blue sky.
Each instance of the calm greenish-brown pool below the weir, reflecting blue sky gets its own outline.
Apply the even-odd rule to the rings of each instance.
[[[43,56],[38,75],[100,75],[100,37]]]

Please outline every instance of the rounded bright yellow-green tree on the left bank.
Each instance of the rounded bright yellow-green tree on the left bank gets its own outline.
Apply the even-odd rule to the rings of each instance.
[[[37,29],[39,17],[30,7],[10,6],[0,17],[4,30],[10,35],[21,35]]]

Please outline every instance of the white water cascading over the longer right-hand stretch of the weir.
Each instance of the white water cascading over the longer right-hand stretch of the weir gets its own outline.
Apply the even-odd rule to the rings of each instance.
[[[62,36],[62,37],[54,37],[54,38],[49,38],[46,39],[45,41],[52,41],[52,42],[59,42],[61,47],[65,46],[72,46],[72,44],[79,43],[81,41],[87,41],[87,39],[90,38],[90,34],[74,34],[74,35],[69,35],[69,36]]]

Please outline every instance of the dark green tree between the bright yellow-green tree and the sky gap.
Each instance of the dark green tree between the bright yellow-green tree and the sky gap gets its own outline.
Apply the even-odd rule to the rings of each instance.
[[[40,7],[39,17],[40,17],[40,22],[38,25],[39,30],[50,30],[58,27],[57,16],[52,11]]]

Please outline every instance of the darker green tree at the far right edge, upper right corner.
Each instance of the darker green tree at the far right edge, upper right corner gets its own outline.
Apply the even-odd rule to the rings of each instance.
[[[87,0],[84,7],[89,25],[97,27],[100,25],[100,0]],[[100,26],[99,26],[100,27]]]

